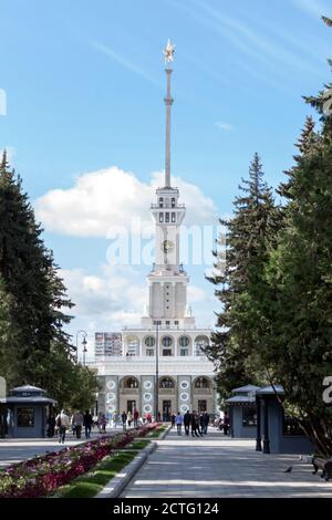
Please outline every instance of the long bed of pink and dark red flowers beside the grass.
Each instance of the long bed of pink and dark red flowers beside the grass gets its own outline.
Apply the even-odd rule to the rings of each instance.
[[[145,437],[157,426],[154,423],[112,437],[103,436],[9,466],[0,471],[0,498],[44,497],[91,470],[114,449],[124,448],[136,437]]]

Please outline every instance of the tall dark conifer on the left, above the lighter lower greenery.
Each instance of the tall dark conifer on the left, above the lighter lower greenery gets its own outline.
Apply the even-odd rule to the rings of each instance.
[[[0,274],[19,333],[21,376],[30,383],[31,355],[48,353],[53,340],[68,343],[62,325],[70,318],[63,309],[72,308],[41,232],[21,179],[9,169],[4,153],[0,165]]]

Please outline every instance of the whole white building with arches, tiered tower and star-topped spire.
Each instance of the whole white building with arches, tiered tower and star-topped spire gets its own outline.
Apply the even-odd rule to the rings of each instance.
[[[170,77],[174,46],[165,51],[167,93],[165,186],[156,190],[151,212],[156,258],[147,275],[148,305],[141,327],[123,330],[123,355],[101,357],[95,367],[102,384],[98,409],[133,410],[169,418],[187,409],[217,412],[214,365],[203,353],[210,329],[197,329],[187,301],[189,277],[180,266],[179,227],[186,207],[170,186]],[[156,385],[157,381],[157,385]],[[158,407],[156,407],[158,402]]]

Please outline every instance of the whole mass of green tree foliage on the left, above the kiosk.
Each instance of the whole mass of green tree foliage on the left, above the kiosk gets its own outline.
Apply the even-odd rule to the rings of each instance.
[[[76,365],[64,313],[73,303],[41,238],[28,195],[0,163],[0,375],[8,387],[42,386],[60,406],[89,408],[95,399],[95,375]]]

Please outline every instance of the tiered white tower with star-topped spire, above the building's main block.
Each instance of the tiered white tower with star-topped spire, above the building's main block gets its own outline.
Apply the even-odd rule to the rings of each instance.
[[[170,116],[172,116],[172,62],[175,46],[168,40],[164,50],[166,73],[166,138],[165,138],[165,184],[156,190],[156,202],[151,212],[155,223],[155,264],[147,277],[149,303],[147,316],[142,324],[151,325],[154,320],[168,325],[194,326],[195,320],[187,305],[189,277],[180,266],[179,230],[186,215],[186,207],[179,202],[179,190],[170,183]],[[165,323],[164,323],[165,324]]]

